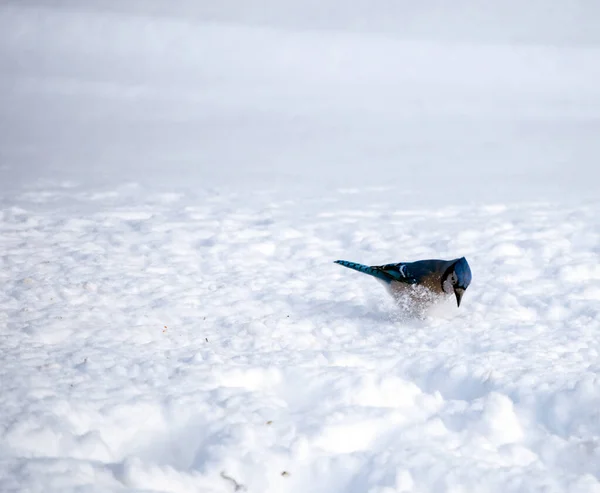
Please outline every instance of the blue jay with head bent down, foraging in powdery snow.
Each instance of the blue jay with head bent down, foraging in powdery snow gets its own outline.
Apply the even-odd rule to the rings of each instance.
[[[336,260],[335,263],[382,281],[397,300],[409,295],[420,304],[454,293],[456,304],[460,306],[463,294],[471,283],[471,269],[464,257],[373,266],[346,260]]]

